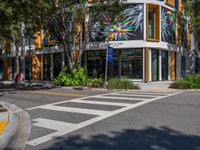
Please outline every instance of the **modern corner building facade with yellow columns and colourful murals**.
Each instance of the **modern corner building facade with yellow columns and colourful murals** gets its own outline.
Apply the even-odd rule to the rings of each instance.
[[[83,66],[90,76],[104,77],[107,37],[114,49],[113,61],[109,63],[110,77],[126,76],[151,82],[176,80],[195,71],[190,22],[184,16],[182,0],[126,0],[123,3],[123,10],[109,24],[106,13],[102,13],[103,24],[92,22],[90,42],[83,56]],[[43,32],[36,33],[35,48],[31,52],[25,48],[26,63],[22,68],[26,79],[53,80],[65,66],[63,50],[54,38],[44,37]],[[0,69],[0,78],[13,79],[14,54],[7,51],[2,55],[0,67],[4,69]]]

